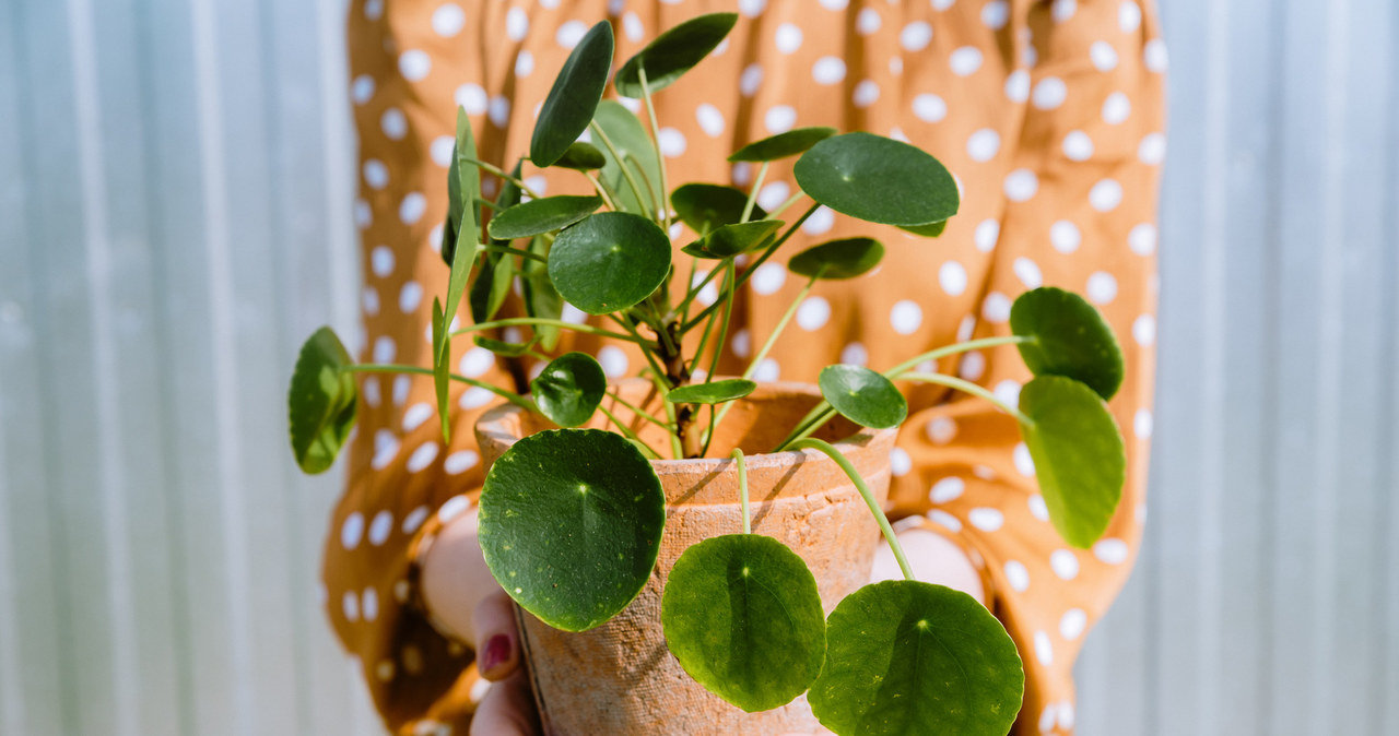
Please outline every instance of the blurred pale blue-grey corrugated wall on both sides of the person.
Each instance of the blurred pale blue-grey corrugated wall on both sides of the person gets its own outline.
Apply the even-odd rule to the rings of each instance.
[[[1399,7],[1161,4],[1150,521],[1079,730],[1399,733]],[[0,3],[0,733],[379,733],[281,409],[358,334],[343,17]]]

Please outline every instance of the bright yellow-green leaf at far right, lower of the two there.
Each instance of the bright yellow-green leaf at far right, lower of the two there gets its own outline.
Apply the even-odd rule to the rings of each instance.
[[[1087,384],[1039,376],[1020,390],[1021,425],[1049,521],[1066,542],[1090,547],[1122,500],[1126,450],[1108,405]]]

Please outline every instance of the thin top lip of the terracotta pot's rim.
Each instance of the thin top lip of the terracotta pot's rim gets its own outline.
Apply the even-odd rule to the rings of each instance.
[[[651,381],[639,377],[623,378],[620,381],[609,381],[609,387],[625,385],[628,383],[644,383],[651,385]],[[757,381],[758,390],[768,390],[775,394],[786,394],[795,397],[816,397],[820,398],[821,390],[816,384],[809,384],[803,381]],[[737,399],[743,401],[743,399]],[[523,437],[515,436],[515,429],[511,426],[509,419],[512,416],[519,416],[525,412],[522,406],[502,401],[495,406],[491,406],[476,420],[476,432],[483,436],[490,436],[492,440],[501,443],[502,447],[509,447]],[[901,426],[901,425],[900,425]],[[839,450],[846,457],[851,452],[858,452],[867,447],[870,443],[876,441],[884,434],[893,434],[900,430],[900,426],[886,427],[886,429],[870,429],[860,427],[860,430],[849,437],[839,441],[832,441],[837,450]],[[611,430],[607,430],[611,432]],[[614,433],[620,434],[620,433]],[[800,458],[800,459],[797,459]],[[818,450],[783,450],[781,452],[755,452],[743,455],[744,465],[748,471],[767,469],[767,468],[788,468],[795,462],[830,462],[835,464],[834,459]],[[694,473],[694,472],[709,472],[720,471],[726,465],[733,465],[732,457],[722,458],[660,458],[649,461],[652,468],[655,468],[656,475],[665,473]]]

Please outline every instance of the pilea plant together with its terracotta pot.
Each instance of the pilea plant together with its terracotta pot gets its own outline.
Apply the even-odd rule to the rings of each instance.
[[[817,385],[754,383],[806,289],[879,264],[883,244],[848,237],[788,260],[806,289],[741,376],[716,376],[734,293],[818,205],[928,237],[958,207],[956,183],[929,154],[831,128],[734,152],[730,161],[760,165],[748,191],[708,183],[672,191],[651,135],[659,130],[652,94],[698,64],[734,21],[690,20],[616,77],[611,27],[583,36],[540,109],[529,162],[579,172],[590,197],[536,197],[523,162],[508,173],[478,161],[459,110],[442,242],[450,277],[434,302],[432,366],[355,365],[319,330],[291,380],[292,450],[306,472],[333,462],[355,419],[358,371],[431,373],[443,433],[449,381],[505,399],[476,427],[490,464],[480,540],[518,603],[550,733],[776,733],[813,726],[814,714],[841,735],[1003,735],[1024,684],[1014,644],[971,596],[912,580],[881,510],[888,451],[908,413],[897,383],[967,391],[1013,415],[1055,528],[1087,547],[1107,528],[1125,475],[1105,405],[1122,380],[1116,339],[1087,302],[1042,288],[1016,300],[1010,337],[943,346],[883,373],[828,366]],[[609,81],[642,101],[651,134],[603,101]],[[768,163],[788,156],[800,156],[800,191],[765,212],[757,190]],[[494,201],[481,196],[483,170],[504,182]],[[803,200],[804,212],[788,215]],[[674,221],[698,237],[676,249]],[[679,279],[700,261],[708,278]],[[516,281],[526,316],[498,317]],[[718,299],[701,309],[709,284]],[[463,299],[474,324],[450,330]],[[565,302],[597,320],[564,320]],[[506,327],[529,335],[488,337]],[[634,344],[646,367],[609,384],[592,356],[554,355],[562,330]],[[547,365],[525,395],[453,376],[449,345],[464,335]],[[922,367],[1011,344],[1035,374],[1018,406]],[[907,580],[863,584],[877,532]]]

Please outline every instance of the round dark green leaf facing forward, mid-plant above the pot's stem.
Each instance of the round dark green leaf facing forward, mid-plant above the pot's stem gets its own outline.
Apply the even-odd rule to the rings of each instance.
[[[631,307],[670,271],[670,239],[655,222],[628,212],[599,212],[564,230],[548,251],[548,278],[565,300],[589,314]]]

